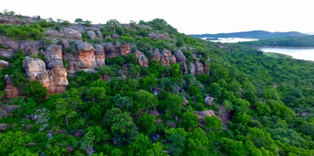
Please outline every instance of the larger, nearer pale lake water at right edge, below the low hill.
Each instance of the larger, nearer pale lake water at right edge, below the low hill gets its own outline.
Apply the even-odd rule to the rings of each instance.
[[[262,48],[261,50],[290,55],[294,59],[314,61],[314,48]]]

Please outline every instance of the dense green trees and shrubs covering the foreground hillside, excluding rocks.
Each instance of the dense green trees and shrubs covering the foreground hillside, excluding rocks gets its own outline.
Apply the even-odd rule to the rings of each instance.
[[[34,25],[43,30],[67,25],[57,21]],[[1,24],[0,33],[26,26]],[[152,59],[149,67],[141,68],[133,54],[116,56],[106,58],[106,66],[95,68],[98,72],[76,72],[68,77],[66,91],[45,99],[47,89],[40,82],[27,82],[25,55],[17,50],[13,58],[3,58],[12,67],[3,67],[0,79],[12,75],[26,97],[10,99],[9,106],[19,108],[14,116],[0,119],[1,128],[7,123],[0,131],[1,156],[86,156],[87,149],[95,150],[92,156],[314,155],[313,63],[268,57],[243,44],[191,38],[163,19],[129,25],[111,20],[99,31],[105,37],[100,43],[131,43],[132,51],[140,50],[148,58],[150,47],[172,54],[181,47],[186,64],[199,60],[205,71],[183,74],[180,63],[162,66]],[[150,39],[151,32],[169,37]],[[112,34],[120,38],[106,38]],[[78,53],[75,42],[62,51]],[[62,61],[66,67],[67,60]],[[211,106],[205,105],[208,95],[214,98]],[[0,101],[6,105],[6,99]],[[215,113],[200,121],[194,111]],[[38,144],[25,145],[31,142]]]

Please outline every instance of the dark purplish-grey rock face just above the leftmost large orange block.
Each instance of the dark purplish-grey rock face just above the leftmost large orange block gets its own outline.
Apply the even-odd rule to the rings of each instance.
[[[39,41],[20,41],[19,42],[20,49],[23,50],[24,54],[38,54],[38,48],[43,45],[42,42]]]

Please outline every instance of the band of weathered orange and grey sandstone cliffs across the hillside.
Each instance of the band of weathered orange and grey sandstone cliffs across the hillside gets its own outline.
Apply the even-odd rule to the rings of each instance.
[[[29,24],[18,20],[4,21],[8,24]],[[30,22],[32,23],[32,22]],[[97,30],[97,31],[96,31]],[[103,40],[100,26],[91,25],[84,27],[82,25],[72,24],[70,27],[62,27],[60,30],[45,30],[45,40],[28,41],[12,40],[0,38],[0,56],[12,58],[15,52],[21,49],[28,57],[23,61],[28,81],[39,81],[46,87],[50,94],[60,93],[66,90],[68,86],[67,76],[74,75],[80,70],[92,70],[97,67],[105,66],[105,58],[114,58],[117,56],[127,56],[133,54],[136,61],[142,68],[149,67],[150,60],[156,60],[163,66],[180,63],[183,74],[199,75],[205,72],[205,67],[196,59],[196,63],[187,64],[187,60],[182,49],[176,49],[172,53],[169,49],[153,50],[151,48],[148,58],[143,51],[131,50],[133,45],[127,43],[102,42],[91,44],[83,41],[82,33],[86,32],[88,38],[93,40]],[[120,38],[119,35],[106,35],[106,37]],[[147,35],[151,40],[168,40],[170,37],[167,33],[151,32]],[[46,41],[50,42],[47,43]],[[67,50],[68,49],[68,50]],[[69,50],[70,49],[70,50]],[[45,60],[40,58],[29,57],[31,55],[43,54]],[[195,57],[195,56],[194,56]],[[42,58],[42,57],[41,57]],[[64,63],[67,64],[65,67]],[[10,67],[6,61],[0,60],[0,68]],[[68,74],[70,73],[70,74]],[[13,86],[10,75],[5,76],[5,95],[8,98],[21,96],[21,89]]]

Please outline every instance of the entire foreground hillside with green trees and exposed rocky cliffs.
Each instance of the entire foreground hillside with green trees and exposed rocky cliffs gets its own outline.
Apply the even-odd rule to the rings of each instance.
[[[0,15],[0,156],[314,156],[314,64],[162,19]]]

